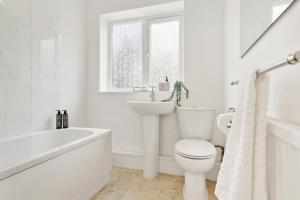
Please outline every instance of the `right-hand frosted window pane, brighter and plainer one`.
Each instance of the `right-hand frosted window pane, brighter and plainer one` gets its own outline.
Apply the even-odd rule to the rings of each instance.
[[[166,75],[170,82],[179,79],[179,55],[179,21],[150,25],[149,84],[165,80]]]

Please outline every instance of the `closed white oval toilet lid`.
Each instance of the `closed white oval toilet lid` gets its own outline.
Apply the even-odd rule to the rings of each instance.
[[[175,153],[188,158],[210,158],[217,155],[217,150],[205,140],[184,139],[176,143]]]

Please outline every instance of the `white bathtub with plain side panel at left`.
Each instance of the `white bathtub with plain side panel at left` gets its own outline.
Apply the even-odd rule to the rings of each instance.
[[[0,200],[88,200],[109,180],[111,131],[70,128],[0,142]]]

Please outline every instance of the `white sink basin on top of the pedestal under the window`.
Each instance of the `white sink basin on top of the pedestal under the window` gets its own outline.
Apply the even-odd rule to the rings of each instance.
[[[128,104],[142,115],[166,115],[175,110],[175,102],[129,101]]]

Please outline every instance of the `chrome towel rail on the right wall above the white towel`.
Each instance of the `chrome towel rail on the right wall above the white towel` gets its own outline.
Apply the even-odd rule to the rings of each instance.
[[[280,67],[286,66],[286,65],[295,65],[297,63],[300,62],[300,51],[297,51],[295,53],[290,54],[287,59],[278,62],[274,65],[271,65],[269,67],[263,68],[263,69],[259,69],[257,70],[257,75],[261,76],[267,72],[273,71],[274,69],[278,69]]]

